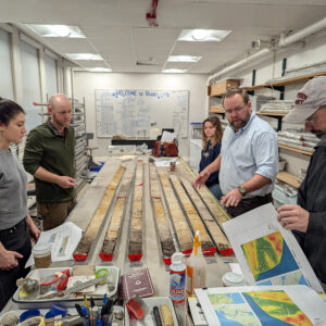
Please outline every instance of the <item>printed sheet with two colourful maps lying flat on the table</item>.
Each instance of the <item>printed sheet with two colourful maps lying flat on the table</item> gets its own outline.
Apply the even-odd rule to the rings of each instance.
[[[325,326],[326,305],[306,286],[196,289],[210,326]]]

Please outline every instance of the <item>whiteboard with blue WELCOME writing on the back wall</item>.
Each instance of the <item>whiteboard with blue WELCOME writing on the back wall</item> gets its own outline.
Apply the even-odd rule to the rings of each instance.
[[[95,96],[98,137],[149,137],[151,123],[188,137],[188,90],[96,89]]]

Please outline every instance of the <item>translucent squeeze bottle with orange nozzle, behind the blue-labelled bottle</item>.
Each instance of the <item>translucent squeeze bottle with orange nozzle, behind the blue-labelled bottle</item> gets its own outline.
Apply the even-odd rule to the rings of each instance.
[[[195,294],[196,288],[206,286],[208,263],[202,254],[199,230],[193,238],[193,249],[190,258],[187,260],[187,281],[186,292],[188,296]]]

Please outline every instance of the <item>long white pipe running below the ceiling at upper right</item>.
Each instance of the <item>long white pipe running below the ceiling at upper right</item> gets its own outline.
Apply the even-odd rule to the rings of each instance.
[[[312,24],[312,25],[310,25],[310,26],[292,34],[292,35],[289,35],[287,37],[284,37],[284,35],[281,35],[275,49],[289,46],[289,45],[291,45],[296,41],[299,41],[299,40],[305,38],[306,36],[311,35],[311,34],[319,32],[321,29],[323,29],[325,27],[326,27],[326,17],[324,17],[323,20],[321,20],[321,21],[318,21],[318,22],[316,22],[316,23],[314,23],[314,24]],[[275,49],[263,49],[263,50],[261,50],[259,52],[255,52],[254,54],[252,54],[252,55],[250,55],[246,59],[240,60],[237,63],[234,63],[234,64],[225,67],[224,70],[222,70],[222,71],[215,73],[214,75],[210,76],[209,79],[208,79],[208,85],[210,85],[212,79],[215,79],[218,76],[221,76],[223,74],[226,74],[226,73],[228,73],[228,72],[230,72],[235,68],[238,68],[239,66],[244,65],[244,64],[247,64],[247,63],[249,63],[249,62],[251,62],[251,61],[253,61],[258,58],[264,57],[264,55],[271,53],[271,51],[275,50]]]

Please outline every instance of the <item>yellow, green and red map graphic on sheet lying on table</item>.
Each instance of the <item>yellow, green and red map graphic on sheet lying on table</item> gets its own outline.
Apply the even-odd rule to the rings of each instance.
[[[313,326],[285,291],[243,292],[242,294],[262,325]],[[268,319],[269,323],[266,323]]]

